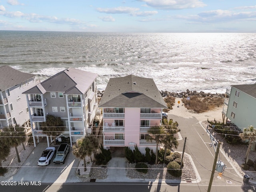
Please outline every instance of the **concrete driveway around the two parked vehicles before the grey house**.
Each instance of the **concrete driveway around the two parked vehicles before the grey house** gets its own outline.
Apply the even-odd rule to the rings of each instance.
[[[78,167],[79,161],[75,159],[71,150],[66,156],[65,164],[53,164],[54,154],[50,165],[38,166],[37,161],[45,148],[47,148],[47,143],[39,143],[30,156],[28,156],[20,170],[10,177],[8,181],[40,181],[41,183],[79,182],[76,176],[76,167]]]

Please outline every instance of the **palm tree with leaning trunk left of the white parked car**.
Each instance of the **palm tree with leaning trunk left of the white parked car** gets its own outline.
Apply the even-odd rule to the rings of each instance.
[[[20,163],[20,156],[17,147],[26,141],[25,129],[19,125],[15,127],[4,127],[1,135],[4,136],[4,138],[2,138],[2,142],[15,148],[18,162]]]

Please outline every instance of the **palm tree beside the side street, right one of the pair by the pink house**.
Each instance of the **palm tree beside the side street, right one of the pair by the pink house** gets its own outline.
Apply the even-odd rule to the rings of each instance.
[[[164,120],[164,131],[166,132],[166,135],[164,136],[164,139],[162,140],[164,144],[164,161],[166,158],[166,152],[167,149],[177,149],[179,146],[179,142],[175,136],[176,133],[178,133],[180,130],[178,129],[178,122],[173,122],[172,119],[169,121]]]

